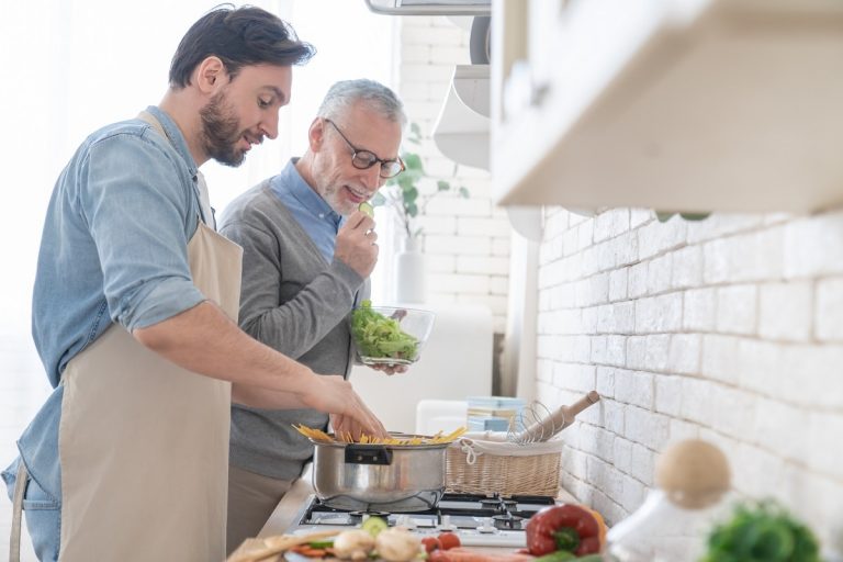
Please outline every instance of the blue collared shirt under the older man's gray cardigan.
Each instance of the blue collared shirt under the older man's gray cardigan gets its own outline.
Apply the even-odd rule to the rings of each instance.
[[[269,187],[313,239],[325,261],[330,263],[334,261],[337,231],[345,218],[304,181],[295,169],[296,160],[291,159],[281,173],[270,180]]]

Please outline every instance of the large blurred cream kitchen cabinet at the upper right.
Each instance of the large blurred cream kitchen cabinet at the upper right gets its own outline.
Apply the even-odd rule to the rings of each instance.
[[[843,202],[843,2],[495,0],[504,205]]]

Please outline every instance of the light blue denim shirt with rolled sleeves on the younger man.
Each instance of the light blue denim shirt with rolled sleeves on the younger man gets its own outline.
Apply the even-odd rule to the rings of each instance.
[[[55,390],[18,448],[42,499],[57,507],[59,381],[68,361],[112,323],[131,331],[205,300],[187,249],[202,215],[196,165],[176,123],[158,108],[146,111],[172,144],[140,120],[97,131],[59,176],[47,210],[32,334]],[[16,463],[3,473],[10,497]]]

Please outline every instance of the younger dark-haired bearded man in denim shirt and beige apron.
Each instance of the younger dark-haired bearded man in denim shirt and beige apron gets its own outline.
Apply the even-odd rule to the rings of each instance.
[[[198,171],[276,137],[312,55],[269,12],[215,9],[160,104],[93,133],[59,177],[33,299],[56,390],[3,473],[41,560],[224,559],[229,381],[383,432],[341,376],[237,327],[240,249],[213,231]]]

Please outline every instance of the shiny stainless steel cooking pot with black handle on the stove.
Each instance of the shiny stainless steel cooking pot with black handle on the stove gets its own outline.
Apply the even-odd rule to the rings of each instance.
[[[445,493],[448,443],[313,443],[313,488],[329,507],[414,512],[436,507]]]

